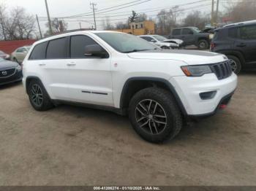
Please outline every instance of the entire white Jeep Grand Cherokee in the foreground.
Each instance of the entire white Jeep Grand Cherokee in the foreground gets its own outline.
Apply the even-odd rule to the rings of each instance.
[[[67,103],[129,114],[143,139],[162,142],[186,120],[225,106],[237,77],[225,55],[159,50],[113,31],[76,31],[34,43],[23,85],[38,111]]]

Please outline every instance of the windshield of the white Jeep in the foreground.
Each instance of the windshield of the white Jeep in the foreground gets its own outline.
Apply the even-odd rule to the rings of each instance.
[[[96,33],[99,38],[110,44],[118,52],[138,52],[157,49],[153,44],[140,39],[138,36],[123,33]]]

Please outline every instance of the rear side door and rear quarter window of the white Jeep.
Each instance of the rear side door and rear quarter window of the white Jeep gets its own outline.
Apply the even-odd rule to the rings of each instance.
[[[37,71],[50,98],[68,100],[65,80],[68,74],[66,37],[37,44],[31,52],[29,64],[29,68]]]

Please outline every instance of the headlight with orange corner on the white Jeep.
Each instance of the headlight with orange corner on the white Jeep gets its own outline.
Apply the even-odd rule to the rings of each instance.
[[[203,74],[212,73],[211,69],[207,65],[203,66],[181,66],[181,70],[187,77],[201,77]]]

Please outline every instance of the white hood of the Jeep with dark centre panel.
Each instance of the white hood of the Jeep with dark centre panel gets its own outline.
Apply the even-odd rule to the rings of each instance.
[[[127,55],[134,59],[183,61],[189,65],[219,63],[227,60],[225,55],[199,50],[147,50]]]

